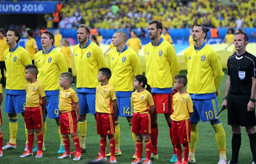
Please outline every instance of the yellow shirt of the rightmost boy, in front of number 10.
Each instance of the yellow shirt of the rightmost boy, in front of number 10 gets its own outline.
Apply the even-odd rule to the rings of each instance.
[[[189,113],[193,112],[192,99],[188,92],[180,95],[177,92],[172,98],[172,109],[173,113],[171,118],[173,121],[183,121],[189,119]]]

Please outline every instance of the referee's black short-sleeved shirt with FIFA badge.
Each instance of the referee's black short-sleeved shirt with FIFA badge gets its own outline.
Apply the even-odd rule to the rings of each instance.
[[[230,75],[230,93],[247,95],[251,93],[252,77],[256,76],[256,56],[248,53],[227,59],[227,75]]]

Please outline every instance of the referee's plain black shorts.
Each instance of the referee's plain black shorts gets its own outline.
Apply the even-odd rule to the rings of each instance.
[[[247,111],[250,95],[232,95],[229,93],[227,100],[227,124],[253,127],[256,126],[255,109]]]

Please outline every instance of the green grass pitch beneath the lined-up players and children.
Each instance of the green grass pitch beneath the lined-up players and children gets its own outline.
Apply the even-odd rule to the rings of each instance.
[[[225,72],[225,70],[224,70]],[[181,74],[187,72],[182,71]],[[218,96],[218,107],[222,103],[222,98],[225,92],[225,83],[227,80],[227,75],[224,75],[221,81],[221,95]],[[76,89],[75,87],[73,87]],[[5,88],[3,89],[3,95],[5,95]],[[3,131],[3,145],[9,141],[9,122],[7,114],[4,112],[4,99],[1,106],[3,125],[1,126]],[[221,122],[226,132],[226,143],[227,143],[227,160],[231,158],[231,139],[232,132],[231,127],[227,125],[227,111],[223,111],[220,115]],[[84,153],[80,161],[73,161],[72,159],[57,159],[60,154],[57,154],[59,149],[60,139],[58,134],[57,125],[55,120],[47,118],[47,132],[45,138],[45,145],[47,151],[44,152],[43,158],[35,158],[35,153],[33,157],[19,158],[23,154],[25,147],[25,130],[24,130],[24,120],[21,114],[18,115],[18,131],[17,131],[17,150],[5,150],[3,151],[3,157],[0,157],[0,164],[81,164],[86,161],[93,160],[97,158],[99,152],[99,135],[96,132],[96,121],[93,115],[87,115],[87,135],[86,135],[86,150],[87,153]],[[131,128],[128,125],[126,118],[120,118],[120,148],[122,151],[122,156],[117,157],[117,163],[119,164],[131,164],[133,161],[132,156],[135,152],[135,146],[131,137]],[[158,137],[158,154],[159,160],[152,161],[153,164],[168,164],[172,157],[172,144],[169,137],[169,127],[166,123],[163,114],[158,116],[158,128],[159,128],[159,137]],[[219,152],[218,147],[215,141],[215,132],[209,122],[203,123],[202,121],[198,124],[198,143],[196,147],[196,163],[197,164],[218,164]],[[71,142],[71,151],[74,150],[73,141],[70,138]],[[36,135],[35,135],[36,143]],[[34,143],[34,144],[35,144]],[[109,146],[107,146],[109,151]],[[144,148],[143,148],[144,149]],[[143,157],[145,157],[145,150],[143,150]],[[73,155],[72,155],[73,158]],[[108,158],[109,159],[109,158]],[[249,138],[245,131],[245,128],[242,128],[242,143],[239,154],[239,163],[240,164],[250,164],[252,162],[252,155],[250,150]]]

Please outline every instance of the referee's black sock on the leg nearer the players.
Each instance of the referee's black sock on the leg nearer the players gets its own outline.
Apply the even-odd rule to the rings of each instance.
[[[233,134],[232,136],[232,158],[230,162],[238,163],[238,155],[241,147],[241,134]]]

